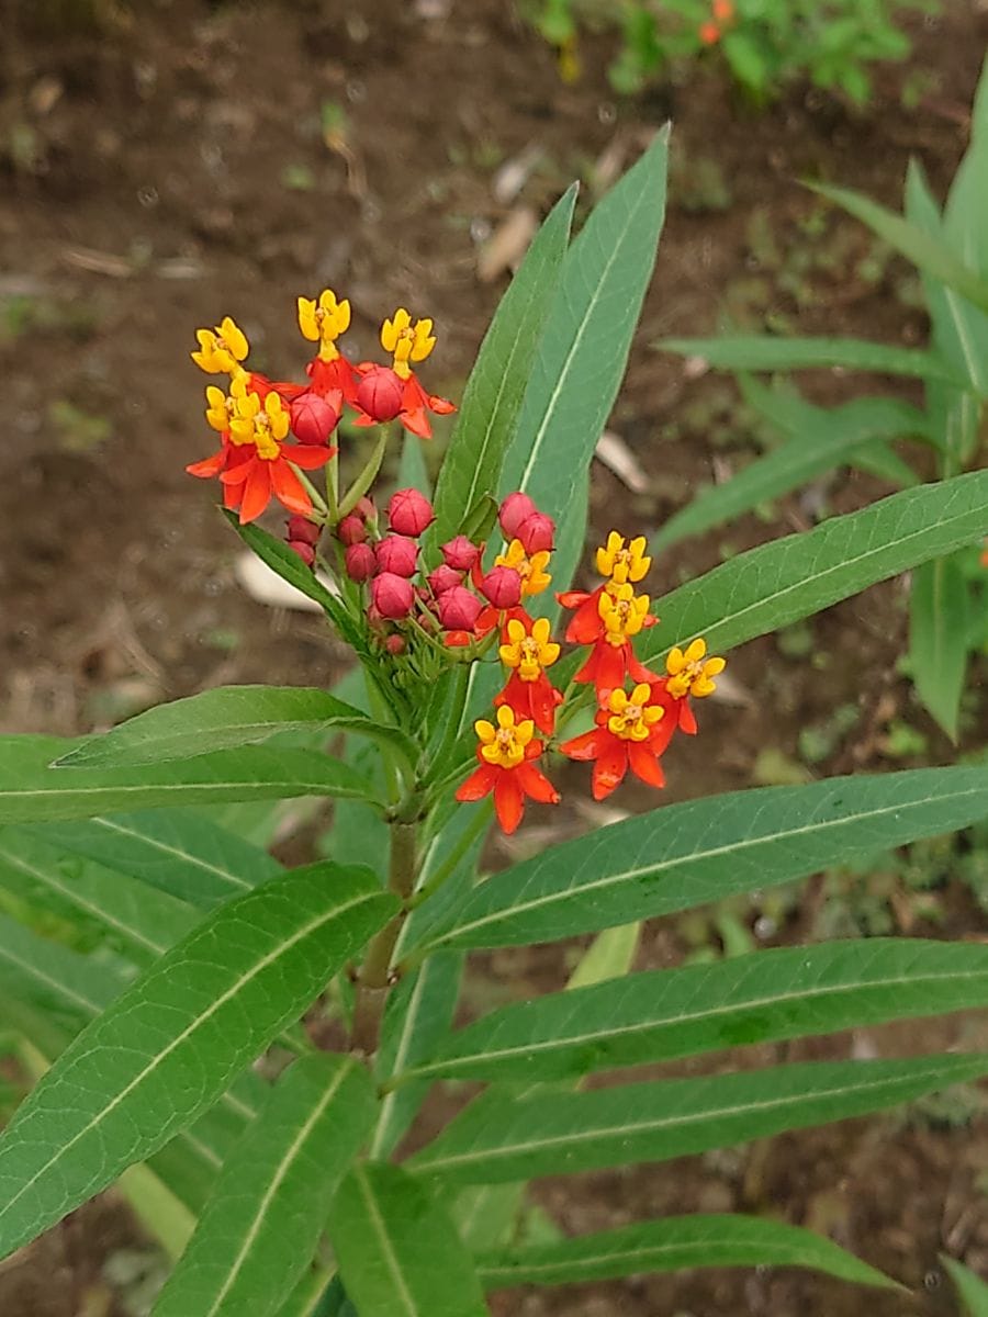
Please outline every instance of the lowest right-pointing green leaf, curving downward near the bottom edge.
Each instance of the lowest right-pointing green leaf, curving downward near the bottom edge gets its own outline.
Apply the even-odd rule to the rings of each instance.
[[[505,1250],[477,1262],[486,1289],[614,1280],[688,1267],[809,1267],[860,1285],[894,1287],[875,1267],[810,1230],[728,1214],[638,1221],[539,1249]]]

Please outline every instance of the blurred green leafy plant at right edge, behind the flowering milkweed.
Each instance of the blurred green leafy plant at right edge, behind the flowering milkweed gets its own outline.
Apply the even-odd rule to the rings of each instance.
[[[905,217],[843,188],[818,186],[823,196],[868,224],[916,263],[930,316],[926,349],[856,338],[771,336],[678,338],[659,344],[740,374],[743,395],[785,436],[767,456],[723,485],[700,494],[672,516],[652,548],[668,549],[759,504],[848,464],[892,485],[910,486],[929,470],[950,477],[983,461],[981,415],[988,398],[988,72],[975,100],[971,145],[941,213],[913,162]],[[858,398],[817,407],[786,381],[768,389],[748,371],[840,367],[922,381],[922,410],[892,398]],[[913,465],[889,446],[917,440],[925,454]],[[958,723],[970,653],[988,652],[988,572],[979,543],[917,566],[909,597],[906,668],[917,694],[951,736]]]

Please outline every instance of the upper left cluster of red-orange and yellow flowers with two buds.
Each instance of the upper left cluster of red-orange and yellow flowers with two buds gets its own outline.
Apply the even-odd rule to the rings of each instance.
[[[299,329],[316,344],[306,367],[308,385],[277,382],[249,370],[249,345],[242,329],[227,316],[212,329],[199,329],[192,361],[207,374],[229,377],[227,389],[206,390],[206,420],[220,435],[220,449],[186,470],[217,475],[224,506],[254,522],[275,498],[294,514],[288,543],[306,561],[315,557],[315,539],[299,531],[295,518],[316,524],[325,520],[304,473],[325,466],[336,454],[332,443],[344,407],[356,412],[357,425],[400,420],[406,429],[428,439],[428,414],[456,408],[445,398],[428,394],[411,362],[424,361],[436,340],[431,320],[412,321],[400,307],[381,328],[381,345],[390,365],[348,361],[337,340],[350,324],[350,304],[331,288],[317,299],[298,299]],[[321,500],[320,500],[321,503]]]

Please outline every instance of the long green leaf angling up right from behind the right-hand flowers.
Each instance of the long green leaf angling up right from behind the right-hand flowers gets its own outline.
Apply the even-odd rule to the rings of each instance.
[[[904,490],[714,568],[657,599],[643,662],[706,636],[711,652],[765,635],[988,535],[988,471]]]

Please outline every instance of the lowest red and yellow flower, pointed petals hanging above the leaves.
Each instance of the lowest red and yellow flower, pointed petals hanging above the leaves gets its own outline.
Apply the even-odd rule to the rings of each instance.
[[[524,814],[526,797],[556,805],[559,793],[532,763],[543,751],[531,719],[515,723],[515,712],[502,705],[497,727],[485,719],[474,723],[480,768],[456,792],[457,801],[480,801],[494,793],[494,811],[505,832],[514,832]]]

